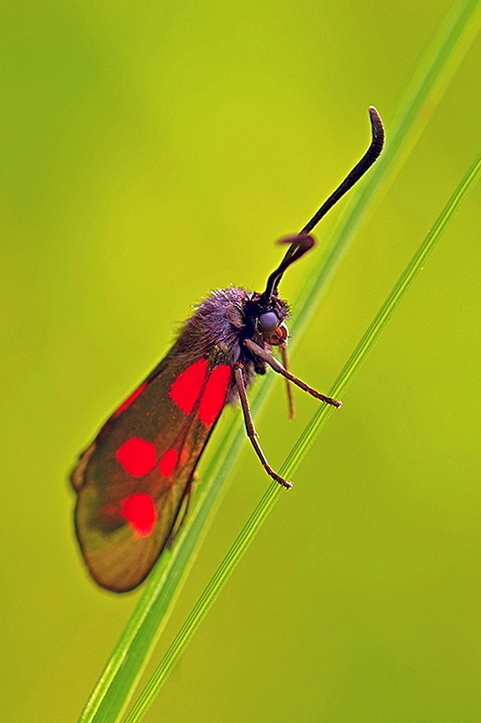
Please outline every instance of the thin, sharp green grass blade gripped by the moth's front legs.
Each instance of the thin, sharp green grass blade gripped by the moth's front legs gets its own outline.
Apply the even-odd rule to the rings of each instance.
[[[436,243],[439,241],[441,235],[446,229],[446,226],[458,210],[466,194],[478,180],[480,174],[481,154],[478,156],[475,164],[472,168],[470,168],[459,184],[458,188],[436,221],[434,227],[427,234],[401,278],[379,310],[372,324],[369,326],[361,341],[357,345],[344,369],[341,371],[338,379],[334,383],[331,389],[332,395],[340,395],[341,392],[346,389],[353,375],[359,369],[367,354],[373,348],[379,334],[386,326],[396,307],[414,282],[428,255],[433,251]],[[315,436],[319,433],[331,412],[332,407],[327,404],[319,408],[318,412],[313,416],[286,461],[282,465],[280,470],[282,475],[290,476],[295,472],[300,461],[307,453],[307,450],[312,445]],[[132,708],[130,715],[127,717],[126,723],[138,723],[138,721],[143,718],[163,683],[166,681],[170,671],[176,664],[183,650],[206,616],[211,605],[221,592],[230,575],[244,555],[244,552],[253,541],[255,535],[283,491],[283,488],[275,482],[269,486],[264,497],[257,505],[252,516],[242,529],[238,538],[197,601],[192,612],[162,659],[160,665],[148,681],[142,694],[139,696],[136,704]]]

